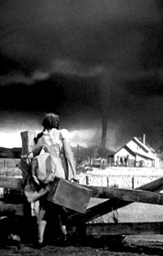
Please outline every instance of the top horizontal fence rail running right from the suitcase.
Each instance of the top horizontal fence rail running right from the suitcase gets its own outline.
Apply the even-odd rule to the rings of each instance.
[[[163,204],[163,194],[161,193],[97,186],[89,186],[89,188],[93,190],[92,197],[104,199],[116,198],[128,202],[144,202],[147,204]]]

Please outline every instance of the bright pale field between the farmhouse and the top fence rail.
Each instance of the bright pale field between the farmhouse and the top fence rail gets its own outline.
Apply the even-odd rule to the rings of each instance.
[[[118,188],[138,188],[163,176],[163,170],[137,167],[94,168],[80,173],[80,184],[90,186],[117,186]]]

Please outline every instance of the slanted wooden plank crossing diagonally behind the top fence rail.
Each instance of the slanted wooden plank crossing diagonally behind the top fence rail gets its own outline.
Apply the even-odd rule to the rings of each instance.
[[[140,186],[137,189],[159,192],[163,189],[163,177]],[[87,211],[83,214],[69,213],[69,216],[67,216],[67,222],[76,224],[87,223],[89,220],[103,216],[106,213],[110,213],[113,209],[119,209],[130,203],[131,202],[120,201],[119,199],[109,199],[101,204],[87,209]]]

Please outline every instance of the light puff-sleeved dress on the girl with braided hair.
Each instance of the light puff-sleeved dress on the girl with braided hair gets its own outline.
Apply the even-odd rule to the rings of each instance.
[[[37,183],[49,183],[55,176],[63,179],[71,179],[67,159],[65,157],[64,142],[69,140],[69,132],[66,129],[55,128],[45,131],[38,140],[33,159],[33,177]],[[42,150],[44,153],[42,153]],[[38,160],[39,159],[39,160]]]

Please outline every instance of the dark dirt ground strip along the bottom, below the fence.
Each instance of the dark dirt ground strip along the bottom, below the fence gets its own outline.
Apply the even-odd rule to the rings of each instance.
[[[163,255],[163,241],[162,239],[143,239],[139,240],[139,236],[134,238],[126,238],[126,240],[121,243],[101,245],[96,241],[85,245],[76,245],[76,246],[55,246],[55,245],[46,245],[41,249],[37,249],[33,244],[22,243],[21,248],[18,249],[17,246],[8,245],[0,248],[1,256],[138,256],[138,255]]]

